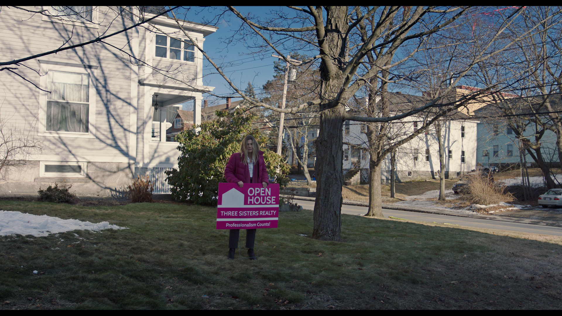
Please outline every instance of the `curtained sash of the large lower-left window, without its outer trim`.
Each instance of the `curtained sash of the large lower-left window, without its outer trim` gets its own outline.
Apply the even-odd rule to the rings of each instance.
[[[46,130],[88,133],[89,75],[51,70],[47,76]]]

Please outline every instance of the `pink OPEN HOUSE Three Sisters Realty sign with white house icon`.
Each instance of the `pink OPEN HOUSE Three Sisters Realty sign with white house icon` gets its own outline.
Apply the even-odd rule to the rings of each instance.
[[[279,184],[219,183],[216,229],[277,228]]]

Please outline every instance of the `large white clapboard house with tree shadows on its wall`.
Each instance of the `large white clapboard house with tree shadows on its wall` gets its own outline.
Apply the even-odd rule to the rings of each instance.
[[[161,8],[142,7],[134,14],[119,14],[118,7],[29,8],[48,16],[3,7],[3,60],[111,34]],[[164,171],[178,166],[179,151],[160,130],[174,128],[176,108],[186,102],[195,110],[187,124],[200,124],[202,93],[214,88],[203,85],[203,56],[176,22],[160,16],[152,24],[156,27],[133,28],[106,43],[22,62],[17,72],[29,82],[2,71],[1,118],[46,149],[19,157],[25,166],[4,169],[0,194],[35,195],[39,187],[64,182],[79,196],[123,196],[127,183],[144,174],[155,182],[155,192],[167,192]],[[200,46],[217,30],[189,21],[182,26]],[[130,62],[130,56],[140,62]],[[166,76],[166,69],[174,75]]]

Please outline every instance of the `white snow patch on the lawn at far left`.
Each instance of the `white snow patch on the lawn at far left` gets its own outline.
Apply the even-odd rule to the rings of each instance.
[[[52,233],[75,231],[101,231],[103,229],[128,229],[109,222],[90,223],[81,222],[78,219],[61,219],[48,215],[32,215],[18,211],[0,210],[0,236],[20,234],[22,236],[33,235],[35,237],[47,236]],[[78,236],[77,234],[75,234]]]

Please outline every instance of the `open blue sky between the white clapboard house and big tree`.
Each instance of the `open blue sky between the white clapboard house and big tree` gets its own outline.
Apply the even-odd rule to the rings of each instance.
[[[283,7],[236,8],[244,15],[246,15],[246,13],[251,13],[256,16],[264,16],[269,13],[270,10],[279,10],[280,8],[284,11],[292,11],[291,9]],[[225,39],[231,38],[234,34],[236,34],[241,25],[241,20],[233,16],[230,12],[227,12],[225,15],[217,19],[216,16],[220,15],[220,13],[224,10],[226,10],[224,7],[190,8],[187,12],[185,12],[185,10],[178,12],[180,15],[176,13],[176,16],[179,19],[185,19],[198,23],[204,23],[211,20],[212,24],[217,26],[219,29],[214,34],[205,37],[203,49],[217,64],[219,64],[219,62],[231,63],[225,68],[226,75],[229,76],[229,79],[236,84],[239,89],[244,91],[248,82],[250,82],[252,83],[255,92],[259,93],[262,85],[269,79],[273,78],[273,62],[277,61],[278,58],[271,57],[271,54],[274,53],[273,49],[269,49],[268,51],[261,53],[252,53],[248,48],[244,47],[244,44],[241,42],[226,44]],[[207,22],[207,24],[209,23]],[[284,53],[287,55],[290,52],[287,51]],[[233,92],[232,88],[229,87],[228,83],[226,83],[219,74],[216,74],[216,70],[207,60],[203,61],[203,74],[205,75],[203,78],[203,84],[215,87],[215,90],[213,91],[214,94],[224,97],[237,95]],[[210,96],[209,94],[203,94],[203,97],[209,101],[209,105],[226,102],[225,99],[221,100],[220,98]],[[235,100],[239,99],[233,99],[233,101]]]

